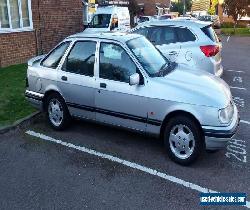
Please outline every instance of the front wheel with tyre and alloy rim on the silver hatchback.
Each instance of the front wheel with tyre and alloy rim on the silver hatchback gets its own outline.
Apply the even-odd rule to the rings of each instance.
[[[171,160],[190,165],[204,152],[204,138],[198,123],[188,116],[169,120],[164,130],[164,145]]]

